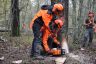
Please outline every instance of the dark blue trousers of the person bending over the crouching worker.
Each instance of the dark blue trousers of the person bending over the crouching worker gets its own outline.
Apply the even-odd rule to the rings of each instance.
[[[32,56],[38,56],[40,55],[40,46],[41,46],[41,32],[40,32],[41,26],[39,24],[33,25],[33,33],[34,33],[34,39],[32,43],[32,49],[31,49],[31,55]]]

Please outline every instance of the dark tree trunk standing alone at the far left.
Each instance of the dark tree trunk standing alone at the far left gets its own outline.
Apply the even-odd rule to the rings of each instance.
[[[12,36],[20,36],[19,1],[11,0]]]

